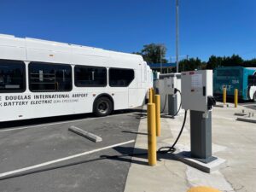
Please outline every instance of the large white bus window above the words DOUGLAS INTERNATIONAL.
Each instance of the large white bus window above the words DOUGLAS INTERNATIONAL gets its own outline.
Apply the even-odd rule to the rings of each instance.
[[[65,64],[31,62],[29,89],[33,92],[72,90],[72,67]]]

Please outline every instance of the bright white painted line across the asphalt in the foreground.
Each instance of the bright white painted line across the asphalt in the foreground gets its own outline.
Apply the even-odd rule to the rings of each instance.
[[[86,154],[93,154],[93,153],[96,153],[98,151],[102,151],[102,150],[105,150],[105,149],[108,149],[108,148],[114,148],[114,147],[117,147],[117,146],[120,146],[120,145],[125,145],[125,144],[128,144],[128,143],[135,143],[135,140],[130,140],[130,141],[127,141],[127,142],[124,142],[124,143],[117,143],[117,144],[109,145],[109,146],[104,147],[104,148],[97,148],[97,149],[94,149],[94,150],[91,150],[91,151],[86,151],[86,152],[81,153],[81,154],[74,154],[74,155],[71,155],[71,156],[67,156],[67,157],[64,157],[64,158],[61,158],[61,159],[58,159],[58,160],[50,160],[50,161],[47,161],[47,162],[44,162],[44,163],[41,163],[41,164],[38,164],[38,165],[35,165],[35,166],[28,166],[28,167],[17,169],[17,170],[11,171],[11,172],[3,172],[3,173],[0,173],[0,178],[1,177],[6,177],[6,176],[9,176],[9,175],[18,173],[18,172],[26,172],[28,170],[36,169],[36,168],[39,168],[39,167],[42,167],[42,166],[49,166],[51,164],[55,164],[55,163],[58,163],[58,162],[61,162],[61,161],[64,161],[64,160],[71,160],[71,159],[74,159],[74,158],[77,158],[77,157],[80,157],[80,156],[83,156],[83,155],[86,155]]]

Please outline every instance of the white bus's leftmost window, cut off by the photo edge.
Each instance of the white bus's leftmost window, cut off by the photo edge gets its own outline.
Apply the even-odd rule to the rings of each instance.
[[[26,90],[25,64],[22,61],[0,60],[0,92]]]

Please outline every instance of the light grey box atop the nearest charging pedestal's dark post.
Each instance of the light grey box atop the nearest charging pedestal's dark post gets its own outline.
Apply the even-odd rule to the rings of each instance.
[[[212,108],[212,70],[182,73],[183,109],[207,112]]]

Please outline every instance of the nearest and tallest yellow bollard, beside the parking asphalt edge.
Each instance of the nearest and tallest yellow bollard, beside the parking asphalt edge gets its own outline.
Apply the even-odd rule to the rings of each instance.
[[[148,103],[148,165],[156,165],[155,106]]]

